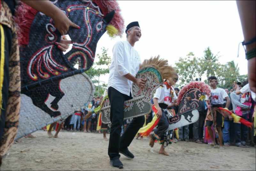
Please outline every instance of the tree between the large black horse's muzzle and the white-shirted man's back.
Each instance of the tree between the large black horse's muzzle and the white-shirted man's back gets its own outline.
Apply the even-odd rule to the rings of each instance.
[[[107,85],[102,84],[100,85],[100,76],[105,75],[109,73],[109,66],[111,64],[111,57],[108,56],[107,52],[108,49],[105,47],[101,48],[102,53],[97,54],[96,56],[98,57],[99,61],[96,63],[93,63],[92,67],[85,71],[85,73],[91,78],[92,83],[95,85],[95,93],[94,96],[101,96],[103,95]]]

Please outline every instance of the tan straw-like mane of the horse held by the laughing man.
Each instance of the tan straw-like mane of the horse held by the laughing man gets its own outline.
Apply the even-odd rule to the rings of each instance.
[[[160,72],[162,80],[168,78],[177,78],[177,73],[172,66],[168,65],[168,60],[160,59],[160,56],[145,59],[143,63],[140,64],[140,70],[147,66],[155,67]]]

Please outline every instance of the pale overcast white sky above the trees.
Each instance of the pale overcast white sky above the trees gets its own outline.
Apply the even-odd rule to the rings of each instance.
[[[240,74],[247,74],[247,61],[242,45],[237,58],[239,42],[243,32],[236,1],[118,1],[121,14],[127,26],[138,21],[142,36],[135,48],[141,60],[160,55],[174,66],[179,57],[193,52],[204,55],[208,46],[213,54],[221,56],[222,64],[234,60]],[[101,48],[109,49],[122,38],[111,39],[105,33],[98,41],[96,54]],[[97,61],[97,58],[95,59]],[[100,78],[107,83],[108,75]]]

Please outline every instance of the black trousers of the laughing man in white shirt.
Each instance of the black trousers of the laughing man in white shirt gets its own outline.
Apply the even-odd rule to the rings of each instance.
[[[122,137],[121,126],[124,120],[124,101],[132,99],[132,96],[125,95],[114,89],[113,87],[108,88],[108,97],[111,105],[110,109],[110,120],[111,129],[108,145],[108,155],[110,160],[120,158],[119,149],[127,148],[138,130],[143,126],[145,122],[144,116],[133,118],[132,122],[126,128]]]

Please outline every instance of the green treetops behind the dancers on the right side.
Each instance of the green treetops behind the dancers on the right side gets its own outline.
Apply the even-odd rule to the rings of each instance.
[[[243,82],[247,75],[240,75],[238,65],[234,61],[227,64],[219,63],[218,53],[214,55],[210,48],[206,48],[203,57],[195,57],[190,52],[186,57],[180,57],[179,61],[175,63],[176,71],[179,74],[179,85],[186,85],[196,78],[216,76],[218,78],[218,86],[221,88],[228,88],[232,86],[234,81]],[[206,80],[202,80],[207,83]]]

